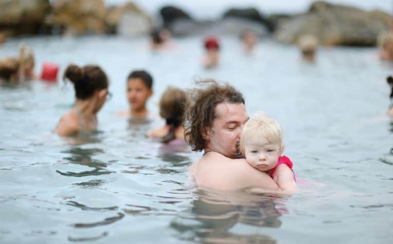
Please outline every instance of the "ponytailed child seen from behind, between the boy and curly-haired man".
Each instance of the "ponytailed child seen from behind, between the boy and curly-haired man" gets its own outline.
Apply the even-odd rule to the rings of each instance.
[[[165,119],[165,126],[152,130],[148,137],[160,138],[161,142],[184,140],[183,116],[189,104],[186,93],[175,87],[168,87],[161,96],[160,116]]]

